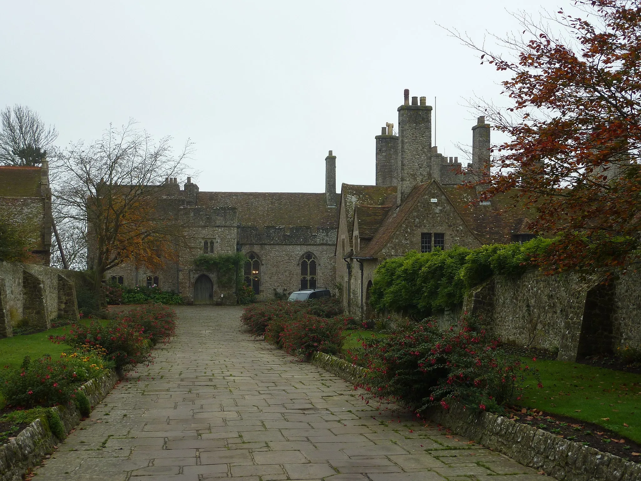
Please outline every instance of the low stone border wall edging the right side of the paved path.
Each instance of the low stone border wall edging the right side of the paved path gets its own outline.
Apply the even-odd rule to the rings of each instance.
[[[353,384],[360,384],[367,373],[363,367],[324,353],[315,353],[311,362]],[[641,480],[641,464],[490,412],[471,412],[453,405],[447,410],[434,409],[429,418],[456,434],[559,480]]]

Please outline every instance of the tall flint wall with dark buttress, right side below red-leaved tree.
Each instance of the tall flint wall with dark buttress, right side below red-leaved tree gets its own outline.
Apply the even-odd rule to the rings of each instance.
[[[507,344],[558,350],[558,359],[612,355],[641,344],[641,275],[615,280],[576,274],[495,276],[473,289],[463,307]]]

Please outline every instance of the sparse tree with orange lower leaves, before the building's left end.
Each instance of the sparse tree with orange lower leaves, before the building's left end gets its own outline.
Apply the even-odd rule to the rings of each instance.
[[[176,260],[184,220],[162,207],[170,195],[164,180],[185,168],[190,144],[174,155],[165,137],[158,142],[130,121],[85,146],[72,144],[56,159],[54,202],[69,227],[86,226],[87,266],[94,287],[123,262],[162,267]]]

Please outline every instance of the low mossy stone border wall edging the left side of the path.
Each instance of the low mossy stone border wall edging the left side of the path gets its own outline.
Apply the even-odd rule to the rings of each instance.
[[[118,381],[115,371],[106,371],[99,378],[92,379],[83,384],[80,389],[93,408],[102,401],[113,389]],[[69,406],[56,406],[60,420],[65,426],[65,436],[78,425],[82,418],[74,404]],[[0,446],[0,481],[21,481],[22,475],[29,469],[40,464],[40,461],[54,451],[58,440],[40,419],[36,419],[24,428],[15,439]]]

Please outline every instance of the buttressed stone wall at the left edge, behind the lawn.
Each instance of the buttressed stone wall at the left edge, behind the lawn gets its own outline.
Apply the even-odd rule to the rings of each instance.
[[[0,337],[13,335],[22,319],[50,328],[51,319],[78,319],[74,271],[17,262],[0,262]]]

